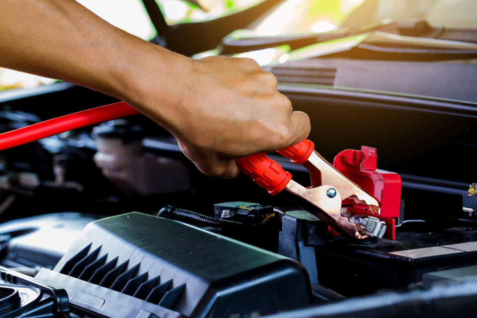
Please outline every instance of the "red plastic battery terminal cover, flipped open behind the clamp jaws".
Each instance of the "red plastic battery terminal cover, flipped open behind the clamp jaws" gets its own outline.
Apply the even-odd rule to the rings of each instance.
[[[334,167],[348,179],[366,190],[380,202],[380,214],[376,215],[352,206],[353,215],[363,214],[386,222],[384,238],[396,239],[396,219],[399,217],[401,199],[401,178],[395,172],[377,169],[376,148],[362,146],[361,150],[343,150],[334,158]],[[343,205],[352,202],[343,201]]]

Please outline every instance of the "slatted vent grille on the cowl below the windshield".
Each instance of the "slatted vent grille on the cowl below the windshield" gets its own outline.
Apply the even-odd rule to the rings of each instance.
[[[334,84],[336,77],[335,67],[307,67],[307,66],[288,66],[279,65],[270,71],[281,83],[295,84],[315,84],[330,85]]]

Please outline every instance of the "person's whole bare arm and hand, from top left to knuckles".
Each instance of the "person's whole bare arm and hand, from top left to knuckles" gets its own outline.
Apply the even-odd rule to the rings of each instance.
[[[277,80],[253,60],[193,60],[124,32],[74,0],[0,0],[0,66],[73,82],[130,103],[174,135],[205,174],[305,139]]]

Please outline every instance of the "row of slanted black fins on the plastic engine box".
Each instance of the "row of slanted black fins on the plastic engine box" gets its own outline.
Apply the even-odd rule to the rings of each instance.
[[[160,276],[148,279],[148,272],[139,273],[141,263],[128,269],[129,260],[117,264],[115,257],[106,262],[108,254],[99,256],[101,246],[89,252],[90,248],[91,244],[66,261],[60,273],[169,309],[185,287],[171,288],[172,280],[160,283]]]

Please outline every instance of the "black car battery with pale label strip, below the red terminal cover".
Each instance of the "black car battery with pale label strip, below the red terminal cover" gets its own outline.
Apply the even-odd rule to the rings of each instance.
[[[338,240],[315,247],[318,282],[344,296],[420,284],[425,273],[474,265],[477,231],[398,231],[396,240]]]

